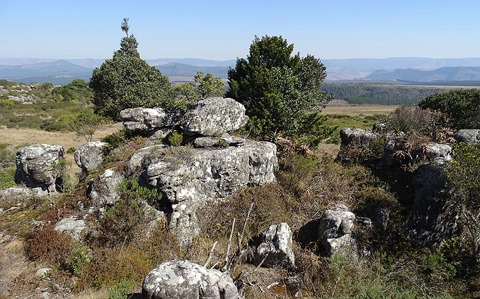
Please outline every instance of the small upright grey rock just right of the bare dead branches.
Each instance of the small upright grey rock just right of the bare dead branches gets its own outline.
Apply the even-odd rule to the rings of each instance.
[[[264,232],[262,243],[257,247],[255,262],[265,259],[264,267],[290,268],[295,265],[294,251],[291,249],[291,229],[287,223],[270,225]]]

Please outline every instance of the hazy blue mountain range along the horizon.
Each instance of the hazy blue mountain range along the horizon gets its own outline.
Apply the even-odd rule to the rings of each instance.
[[[73,79],[88,81],[104,59],[0,58],[0,79],[22,82],[66,84]],[[199,58],[147,59],[171,77],[193,78],[198,70],[227,79],[236,60]],[[324,59],[326,81],[480,81],[480,58],[351,58]]]

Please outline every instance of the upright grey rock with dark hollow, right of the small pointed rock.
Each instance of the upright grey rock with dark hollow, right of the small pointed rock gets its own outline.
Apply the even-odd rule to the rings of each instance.
[[[344,204],[335,204],[323,213],[319,225],[319,241],[326,254],[332,256],[341,252],[351,257],[358,256],[354,221],[355,214]]]

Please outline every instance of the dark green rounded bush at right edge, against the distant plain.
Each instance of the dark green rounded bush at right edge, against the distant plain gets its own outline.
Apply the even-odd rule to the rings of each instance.
[[[451,90],[426,97],[419,106],[439,110],[450,116],[458,129],[480,127],[480,90]]]

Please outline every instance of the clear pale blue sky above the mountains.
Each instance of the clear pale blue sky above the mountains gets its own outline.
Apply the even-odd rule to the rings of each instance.
[[[0,57],[110,58],[130,32],[142,58],[245,57],[282,35],[319,58],[480,56],[480,1],[1,0]]]

